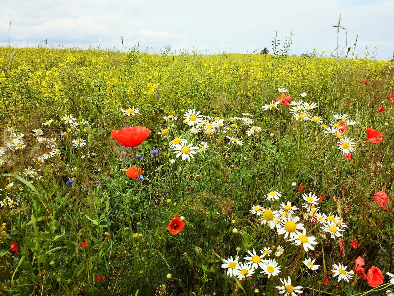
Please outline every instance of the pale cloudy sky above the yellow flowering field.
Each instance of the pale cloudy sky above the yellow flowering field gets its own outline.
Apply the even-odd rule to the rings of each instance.
[[[340,54],[353,50],[357,34],[357,57],[369,51],[389,60],[394,50],[393,0],[2,0],[1,6],[0,46],[272,53],[275,34],[282,46],[293,29],[290,54],[314,48]],[[340,15],[346,32],[338,35],[333,25]]]

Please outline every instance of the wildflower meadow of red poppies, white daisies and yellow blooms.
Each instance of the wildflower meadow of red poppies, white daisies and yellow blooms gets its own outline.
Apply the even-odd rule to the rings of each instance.
[[[0,48],[0,295],[392,296],[394,66],[289,46]]]

